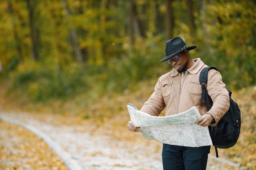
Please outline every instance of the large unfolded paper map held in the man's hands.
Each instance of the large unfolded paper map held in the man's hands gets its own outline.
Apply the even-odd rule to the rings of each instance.
[[[208,127],[195,124],[201,117],[197,108],[166,117],[151,116],[137,110],[132,104],[127,105],[130,119],[144,139],[156,140],[160,143],[200,147],[212,145]]]

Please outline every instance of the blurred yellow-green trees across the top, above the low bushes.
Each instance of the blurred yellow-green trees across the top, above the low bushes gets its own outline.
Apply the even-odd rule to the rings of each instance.
[[[25,71],[22,64],[31,59],[62,69],[77,62],[105,68],[130,55],[155,60],[165,38],[181,36],[198,45],[191,55],[218,66],[240,88],[256,83],[255,6],[238,0],[2,0],[3,73]]]

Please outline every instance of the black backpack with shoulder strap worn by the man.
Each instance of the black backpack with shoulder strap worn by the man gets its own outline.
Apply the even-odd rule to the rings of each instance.
[[[199,77],[199,82],[202,86],[202,99],[201,103],[206,103],[207,110],[210,110],[209,98],[206,90],[206,83],[208,79],[208,70],[217,68],[208,66],[202,69]],[[217,70],[218,71],[218,70]],[[230,106],[227,113],[220,119],[218,124],[214,127],[209,126],[209,132],[213,146],[216,150],[216,157],[218,157],[217,148],[231,148],[238,140],[241,128],[241,113],[237,103],[231,99],[232,92],[229,92]]]

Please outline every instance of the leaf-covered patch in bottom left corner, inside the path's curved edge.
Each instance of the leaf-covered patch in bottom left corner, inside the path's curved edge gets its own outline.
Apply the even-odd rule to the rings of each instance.
[[[42,139],[4,121],[0,121],[0,157],[0,170],[67,170]]]

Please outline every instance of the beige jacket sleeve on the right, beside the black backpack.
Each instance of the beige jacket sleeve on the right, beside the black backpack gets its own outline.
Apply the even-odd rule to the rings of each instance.
[[[215,119],[215,123],[212,123],[211,126],[216,126],[229,110],[229,93],[226,85],[222,82],[222,76],[214,69],[210,69],[208,73],[207,93],[213,101],[213,105],[207,113]]]

